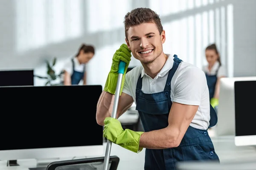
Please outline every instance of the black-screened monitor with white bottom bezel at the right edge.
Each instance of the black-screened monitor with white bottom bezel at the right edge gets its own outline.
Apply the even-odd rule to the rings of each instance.
[[[256,80],[235,82],[235,144],[256,146]]]

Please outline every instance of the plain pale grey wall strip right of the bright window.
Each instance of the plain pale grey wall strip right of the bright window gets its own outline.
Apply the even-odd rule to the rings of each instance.
[[[234,0],[234,75],[256,76],[256,0]]]

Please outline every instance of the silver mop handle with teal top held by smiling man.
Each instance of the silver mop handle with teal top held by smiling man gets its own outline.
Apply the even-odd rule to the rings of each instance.
[[[116,112],[117,112],[117,107],[118,107],[118,102],[119,102],[119,95],[120,95],[120,90],[121,90],[121,85],[122,85],[122,76],[125,72],[125,64],[126,64],[125,62],[120,61],[119,62],[119,67],[118,67],[118,79],[117,79],[117,84],[116,84],[116,93],[115,93],[115,99],[114,99],[114,104],[113,104],[113,111],[112,111],[112,115],[111,115],[111,117],[115,118],[115,119],[116,119]],[[112,144],[112,142],[108,140],[107,147],[106,147],[106,152],[105,152],[103,170],[108,170],[111,144]]]

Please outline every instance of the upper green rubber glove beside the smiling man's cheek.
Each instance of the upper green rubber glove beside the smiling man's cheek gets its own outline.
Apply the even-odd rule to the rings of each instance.
[[[126,44],[122,44],[120,48],[116,50],[115,54],[113,55],[111,70],[108,74],[108,78],[104,87],[104,91],[107,91],[111,94],[115,94],[116,92],[116,84],[118,79],[118,67],[119,67],[120,61],[123,61],[126,63],[125,71],[122,76],[122,84],[120,89],[120,95],[121,95],[122,89],[125,83],[125,74],[126,74],[128,65],[131,61],[131,51],[129,50]]]

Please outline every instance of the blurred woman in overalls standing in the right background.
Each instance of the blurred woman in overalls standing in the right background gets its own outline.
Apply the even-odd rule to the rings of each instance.
[[[221,65],[220,54],[215,44],[207,46],[205,49],[205,56],[208,64],[203,66],[203,71],[206,75],[209,88],[210,104],[217,110],[220,79],[221,77],[227,77],[226,69]]]

